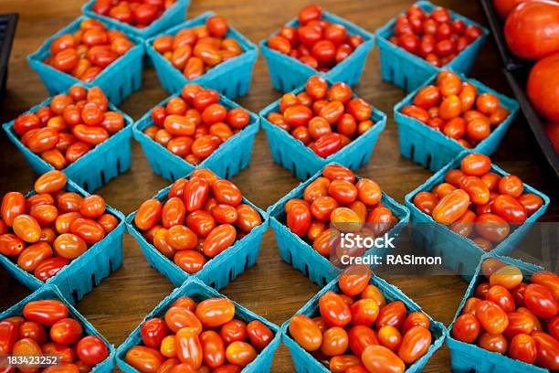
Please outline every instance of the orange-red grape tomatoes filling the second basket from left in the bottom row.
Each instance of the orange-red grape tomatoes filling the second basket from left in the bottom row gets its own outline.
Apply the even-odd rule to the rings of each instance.
[[[133,346],[126,362],[142,373],[240,372],[269,345],[274,333],[258,320],[235,318],[235,304],[209,298],[196,304],[183,296],[163,318],[146,320],[144,346]]]

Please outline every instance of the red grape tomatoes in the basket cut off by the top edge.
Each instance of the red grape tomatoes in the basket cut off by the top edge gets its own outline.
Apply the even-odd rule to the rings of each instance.
[[[175,0],[96,0],[93,12],[143,28],[163,15]]]

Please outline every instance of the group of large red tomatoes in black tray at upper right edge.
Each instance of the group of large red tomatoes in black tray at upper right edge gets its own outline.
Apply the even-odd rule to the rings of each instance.
[[[493,0],[506,19],[504,35],[512,53],[538,60],[530,71],[526,92],[543,117],[559,155],[559,3],[551,0]]]

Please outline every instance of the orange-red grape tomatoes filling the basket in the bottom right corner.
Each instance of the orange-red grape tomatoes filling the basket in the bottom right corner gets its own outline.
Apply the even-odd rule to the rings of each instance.
[[[551,371],[559,370],[559,276],[521,270],[497,259],[483,262],[481,282],[454,322],[452,336]]]

